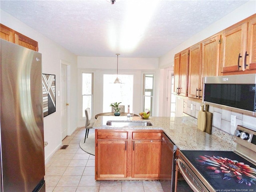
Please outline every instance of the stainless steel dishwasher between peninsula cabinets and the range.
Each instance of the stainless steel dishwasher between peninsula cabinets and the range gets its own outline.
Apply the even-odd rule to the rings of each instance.
[[[162,133],[160,183],[164,192],[174,192],[177,146]]]

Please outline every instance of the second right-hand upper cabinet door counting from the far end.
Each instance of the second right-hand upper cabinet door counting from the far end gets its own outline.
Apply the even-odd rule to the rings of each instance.
[[[189,50],[186,49],[180,53],[180,83],[179,95],[188,96],[188,54]]]

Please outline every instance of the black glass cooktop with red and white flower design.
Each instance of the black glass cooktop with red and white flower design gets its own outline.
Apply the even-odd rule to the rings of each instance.
[[[232,151],[184,151],[216,192],[256,192],[256,165]]]

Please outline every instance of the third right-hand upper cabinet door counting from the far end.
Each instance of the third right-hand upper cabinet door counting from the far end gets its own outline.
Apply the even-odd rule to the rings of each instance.
[[[202,44],[190,47],[188,68],[188,97],[199,99]]]

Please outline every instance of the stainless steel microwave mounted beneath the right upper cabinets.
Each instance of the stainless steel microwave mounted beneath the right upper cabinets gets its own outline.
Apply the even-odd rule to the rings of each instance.
[[[256,74],[204,77],[203,102],[256,116]]]

